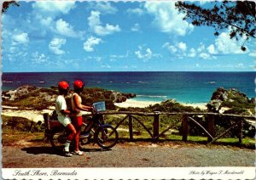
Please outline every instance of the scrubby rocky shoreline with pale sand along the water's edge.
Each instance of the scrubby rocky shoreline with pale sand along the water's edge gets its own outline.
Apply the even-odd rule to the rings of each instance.
[[[71,94],[72,92],[70,92]],[[57,87],[43,88],[22,86],[15,90],[9,90],[2,93],[3,105],[18,107],[19,109],[35,109],[45,110],[49,106],[55,106],[55,98],[58,96]],[[140,102],[137,101],[137,94],[135,93],[120,93],[112,90],[105,90],[102,88],[85,88],[82,93],[83,102],[92,104],[96,101],[106,101],[108,110],[115,110],[115,106],[121,108],[128,107],[140,107],[146,108],[152,104],[161,104],[161,102]],[[67,97],[67,102],[68,102]],[[175,99],[169,99],[169,101],[175,101]],[[175,101],[175,104],[178,102]],[[183,104],[183,106],[199,107],[201,110],[207,110],[209,112],[224,113],[225,110],[230,109],[250,109],[251,115],[255,105],[255,98],[248,98],[245,93],[241,93],[239,90],[230,88],[224,89],[218,87],[215,92],[212,93],[212,98],[208,103],[202,104]],[[40,108],[38,108],[40,106]]]

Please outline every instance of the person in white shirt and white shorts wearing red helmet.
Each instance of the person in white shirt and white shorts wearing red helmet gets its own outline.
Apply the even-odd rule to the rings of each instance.
[[[71,123],[71,119],[68,115],[71,115],[71,111],[67,110],[67,103],[65,96],[67,96],[69,85],[67,82],[59,82],[58,89],[59,89],[59,96],[55,101],[55,110],[58,115],[58,121],[68,129],[70,134],[67,137],[67,142],[65,143],[64,153],[66,156],[71,157],[72,154],[69,152],[69,145],[72,142],[73,138],[75,137],[76,129]]]

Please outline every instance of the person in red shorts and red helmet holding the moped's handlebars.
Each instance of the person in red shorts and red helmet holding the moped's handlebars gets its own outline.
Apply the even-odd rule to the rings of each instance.
[[[80,94],[84,90],[84,82],[81,82],[79,80],[73,82],[73,88],[74,88],[74,93],[72,94],[72,110],[77,111],[77,114],[74,115],[73,117],[73,125],[76,127],[76,135],[75,135],[75,151],[74,153],[76,155],[84,155],[84,152],[79,150],[79,137],[80,137],[80,132],[81,132],[81,127],[83,124],[83,117],[82,117],[82,112],[81,110],[84,111],[92,111],[93,107],[86,106],[82,104],[82,98]]]

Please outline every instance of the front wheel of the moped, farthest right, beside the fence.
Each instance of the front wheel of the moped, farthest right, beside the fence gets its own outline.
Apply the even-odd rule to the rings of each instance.
[[[112,126],[103,125],[97,128],[94,138],[101,148],[110,149],[117,143],[119,135]]]

